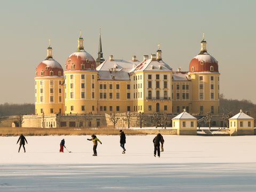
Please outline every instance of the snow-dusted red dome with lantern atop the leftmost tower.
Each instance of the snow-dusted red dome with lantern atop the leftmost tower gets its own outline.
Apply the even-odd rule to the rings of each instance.
[[[63,76],[63,68],[60,63],[52,58],[52,47],[49,43],[47,57],[36,67],[36,77]]]

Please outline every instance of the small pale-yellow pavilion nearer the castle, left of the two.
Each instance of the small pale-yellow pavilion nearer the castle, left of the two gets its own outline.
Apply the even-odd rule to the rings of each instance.
[[[177,129],[178,135],[196,135],[197,118],[186,112],[183,112],[172,118],[172,127]]]

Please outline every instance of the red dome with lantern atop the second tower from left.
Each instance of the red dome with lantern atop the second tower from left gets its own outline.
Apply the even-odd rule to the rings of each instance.
[[[78,38],[77,51],[69,55],[66,61],[66,70],[95,70],[96,62],[92,55],[84,50],[83,37]]]

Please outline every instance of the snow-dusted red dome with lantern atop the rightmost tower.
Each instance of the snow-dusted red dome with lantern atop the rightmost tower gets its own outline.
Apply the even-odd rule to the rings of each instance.
[[[218,61],[206,49],[206,41],[203,36],[201,51],[189,64],[189,73],[211,72],[219,73]]]

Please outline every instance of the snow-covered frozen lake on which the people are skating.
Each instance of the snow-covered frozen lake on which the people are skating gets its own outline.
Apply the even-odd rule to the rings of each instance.
[[[98,157],[89,136],[0,137],[0,191],[255,191],[256,136],[163,135],[164,152],[153,156],[154,135],[98,135]],[[72,153],[59,153],[65,138]]]

